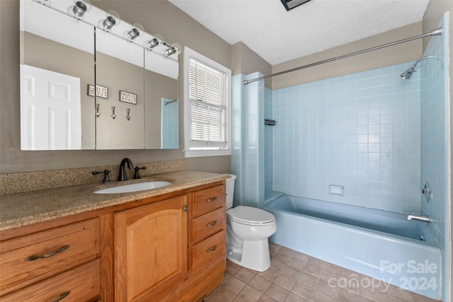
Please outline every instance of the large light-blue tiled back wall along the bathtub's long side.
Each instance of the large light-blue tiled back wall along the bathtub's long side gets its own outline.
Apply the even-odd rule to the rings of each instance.
[[[411,64],[273,91],[273,190],[419,213],[420,79],[399,76]]]

